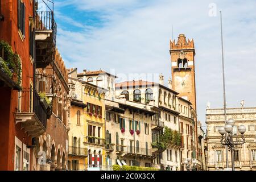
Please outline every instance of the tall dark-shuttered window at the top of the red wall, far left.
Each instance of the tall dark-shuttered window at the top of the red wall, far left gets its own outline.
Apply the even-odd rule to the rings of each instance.
[[[18,0],[18,28],[22,32],[23,36],[25,36],[25,16],[26,7],[23,2]]]

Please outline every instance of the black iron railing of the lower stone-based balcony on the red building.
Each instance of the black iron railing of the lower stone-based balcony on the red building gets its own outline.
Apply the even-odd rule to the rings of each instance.
[[[23,88],[19,92],[18,113],[35,113],[44,128],[47,126],[49,118],[46,106],[40,101],[40,97],[35,89]]]

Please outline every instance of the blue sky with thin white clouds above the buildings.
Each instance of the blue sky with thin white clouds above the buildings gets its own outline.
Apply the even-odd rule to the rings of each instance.
[[[216,5],[216,16],[211,3]],[[228,107],[256,106],[256,1],[58,0],[57,47],[67,68],[171,77],[170,39],[195,40],[197,114],[222,107],[220,16],[224,26]],[[212,15],[212,14],[210,14]]]

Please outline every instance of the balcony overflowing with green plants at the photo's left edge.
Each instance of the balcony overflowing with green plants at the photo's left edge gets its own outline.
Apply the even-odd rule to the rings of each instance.
[[[21,90],[21,63],[19,55],[13,52],[11,46],[0,42],[0,86],[8,86],[15,90]]]

